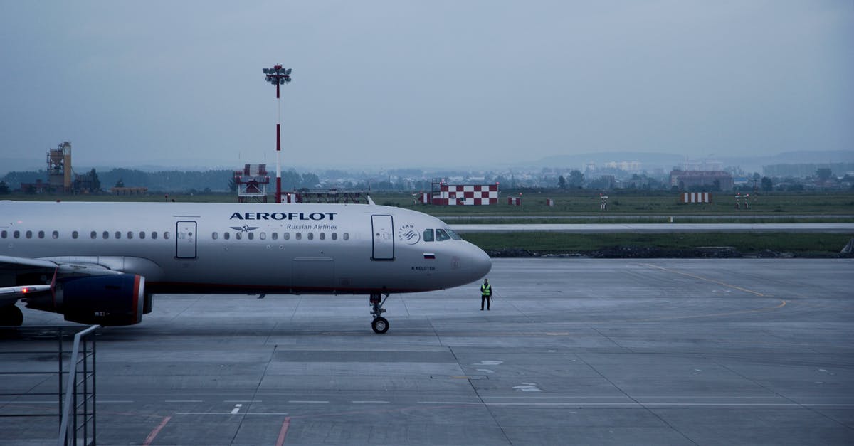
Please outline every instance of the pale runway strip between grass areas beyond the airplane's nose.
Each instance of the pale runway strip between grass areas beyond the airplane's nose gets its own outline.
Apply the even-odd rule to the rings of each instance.
[[[471,232],[574,232],[594,233],[670,233],[670,232],[825,232],[854,234],[854,223],[529,223],[529,224],[453,224],[461,234]]]

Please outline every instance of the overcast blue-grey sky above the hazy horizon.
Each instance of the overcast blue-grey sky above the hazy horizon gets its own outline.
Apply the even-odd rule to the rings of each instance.
[[[854,2],[0,0],[0,159],[464,167],[854,150]]]

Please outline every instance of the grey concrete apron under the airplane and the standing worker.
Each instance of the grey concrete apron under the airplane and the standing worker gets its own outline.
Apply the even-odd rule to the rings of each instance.
[[[489,278],[490,311],[477,284],[390,297],[385,335],[367,296],[156,296],[98,337],[97,441],[854,443],[854,261],[496,259]],[[0,432],[50,443],[56,421]]]

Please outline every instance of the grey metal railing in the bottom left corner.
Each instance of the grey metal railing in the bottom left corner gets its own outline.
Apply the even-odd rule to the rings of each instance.
[[[66,421],[67,434],[59,444],[94,444],[97,328],[0,327],[0,418],[55,418],[59,431]],[[64,404],[69,395],[71,404]],[[48,441],[56,438],[54,429],[42,434],[37,427],[34,436]]]

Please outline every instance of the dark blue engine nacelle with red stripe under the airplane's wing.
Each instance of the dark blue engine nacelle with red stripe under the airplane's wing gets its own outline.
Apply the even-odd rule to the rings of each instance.
[[[65,320],[101,326],[132,326],[143,320],[145,278],[134,274],[63,279],[56,311]]]

